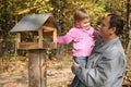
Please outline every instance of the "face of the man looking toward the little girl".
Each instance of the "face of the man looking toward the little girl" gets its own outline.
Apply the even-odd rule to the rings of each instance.
[[[103,38],[109,38],[111,28],[109,28],[110,16],[104,18],[102,24],[98,26],[99,34]]]

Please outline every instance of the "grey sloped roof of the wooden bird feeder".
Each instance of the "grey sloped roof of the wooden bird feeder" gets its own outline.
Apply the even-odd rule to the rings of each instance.
[[[51,13],[26,15],[11,29],[11,32],[37,32],[45,22],[51,17],[50,21],[58,29]]]

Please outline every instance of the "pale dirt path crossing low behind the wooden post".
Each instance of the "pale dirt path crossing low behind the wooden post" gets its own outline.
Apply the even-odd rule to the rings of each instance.
[[[0,78],[0,87],[28,87],[27,71],[17,75],[5,75],[5,73],[2,75],[4,76]],[[73,74],[69,67],[47,70],[47,85],[50,87],[58,87],[55,84],[71,80]]]

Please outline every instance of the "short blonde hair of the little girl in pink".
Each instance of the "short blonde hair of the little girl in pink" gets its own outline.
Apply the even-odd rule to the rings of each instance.
[[[74,13],[74,22],[82,21],[84,18],[90,18],[90,14],[85,9],[79,9]]]

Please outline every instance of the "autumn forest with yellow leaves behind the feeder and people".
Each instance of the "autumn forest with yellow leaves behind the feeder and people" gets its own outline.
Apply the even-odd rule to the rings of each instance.
[[[27,57],[27,51],[16,50],[15,34],[10,33],[12,27],[25,15],[52,13],[60,27],[60,35],[64,35],[73,25],[74,11],[80,8],[85,8],[90,12],[91,24],[96,29],[97,23],[108,13],[120,14],[126,22],[123,34],[120,35],[120,38],[127,50],[129,44],[127,1],[128,0],[0,0],[0,73],[4,73],[10,69],[8,63],[11,61],[19,61],[17,57]],[[128,18],[131,18],[130,14]],[[23,37],[25,40],[29,40],[27,33],[25,33]],[[48,49],[47,54],[50,60],[57,59],[63,61],[63,57],[71,55],[71,44],[69,46],[59,45],[58,48],[53,50]]]

